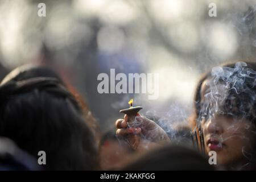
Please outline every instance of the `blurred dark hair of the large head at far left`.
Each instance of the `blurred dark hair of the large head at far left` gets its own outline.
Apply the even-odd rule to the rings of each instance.
[[[98,147],[82,109],[55,72],[15,69],[0,85],[0,135],[38,158],[44,169],[91,170],[98,167]]]

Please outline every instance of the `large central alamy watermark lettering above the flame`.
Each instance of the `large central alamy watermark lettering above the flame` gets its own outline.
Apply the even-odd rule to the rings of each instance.
[[[97,80],[101,81],[97,86],[98,93],[100,94],[147,93],[148,100],[158,99],[159,76],[156,73],[129,73],[127,78],[125,73],[115,75],[115,69],[110,69],[110,78],[108,74],[100,73]],[[115,84],[115,81],[118,81],[117,84]]]

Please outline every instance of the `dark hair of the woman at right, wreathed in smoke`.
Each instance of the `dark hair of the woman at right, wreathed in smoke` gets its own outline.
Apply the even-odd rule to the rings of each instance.
[[[204,115],[212,114],[210,107],[205,108],[201,100],[201,87],[205,80],[210,79],[213,86],[222,84],[225,86],[225,96],[217,93],[216,97],[210,96],[210,99],[222,99],[222,106],[218,106],[221,114],[231,115],[233,117],[246,118],[255,124],[256,119],[256,63],[253,62],[237,62],[226,63],[220,67],[214,67],[211,72],[205,73],[197,87],[195,94],[195,118],[201,119]],[[210,90],[213,92],[212,90]],[[211,93],[212,94],[212,93]],[[239,97],[237,97],[239,95]],[[206,103],[207,105],[209,103]],[[212,104],[212,103],[211,103]],[[214,107],[213,105],[211,107]],[[216,108],[214,108],[216,109]]]

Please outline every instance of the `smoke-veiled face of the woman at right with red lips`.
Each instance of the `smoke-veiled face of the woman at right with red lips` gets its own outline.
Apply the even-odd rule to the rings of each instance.
[[[202,85],[201,98],[207,93],[207,81]],[[247,119],[234,119],[228,115],[214,114],[202,120],[205,150],[216,151],[217,164],[243,165],[250,159],[254,147],[254,126]]]

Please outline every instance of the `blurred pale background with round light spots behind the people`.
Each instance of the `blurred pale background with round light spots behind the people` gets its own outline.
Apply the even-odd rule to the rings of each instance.
[[[46,17],[38,16],[40,2]],[[48,65],[79,90],[102,131],[122,118],[130,98],[142,114],[183,121],[201,73],[255,60],[255,11],[255,0],[1,0],[0,77],[19,65]],[[158,100],[99,94],[97,76],[110,68],[158,73]]]

